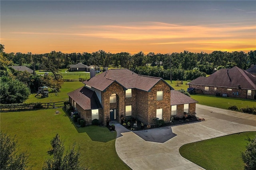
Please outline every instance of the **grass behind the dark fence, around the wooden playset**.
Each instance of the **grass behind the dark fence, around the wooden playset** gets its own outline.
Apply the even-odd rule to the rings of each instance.
[[[37,98],[35,97],[36,94],[31,94],[28,100],[25,101],[25,103],[35,103],[35,102],[49,103],[49,102],[57,102],[57,101],[66,101],[68,100],[67,93],[75,89],[78,89],[79,87],[82,87],[82,86],[84,86],[84,83],[80,81],[64,82],[57,96],[55,95],[55,93],[49,93],[49,97]],[[50,89],[49,89],[49,92],[51,92]]]

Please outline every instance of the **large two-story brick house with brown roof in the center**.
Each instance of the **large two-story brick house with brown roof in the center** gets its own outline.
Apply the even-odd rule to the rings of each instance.
[[[121,115],[146,125],[152,125],[155,117],[168,123],[173,115],[183,117],[184,112],[193,115],[196,111],[197,101],[174,91],[164,79],[128,69],[110,69],[83,83],[84,87],[68,96],[80,117],[87,120],[86,125],[93,119],[106,125],[107,117],[120,122]]]

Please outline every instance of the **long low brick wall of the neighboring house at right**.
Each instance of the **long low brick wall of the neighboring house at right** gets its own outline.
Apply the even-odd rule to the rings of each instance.
[[[227,97],[236,97],[236,98],[242,98],[242,99],[254,99],[254,96],[256,95],[255,90],[252,90],[252,95],[248,96],[246,89],[207,86],[209,87],[209,91],[205,91],[205,87],[206,87],[205,85],[189,85],[189,88],[202,90],[204,95],[220,94],[220,96],[222,96],[222,94],[227,94]],[[215,87],[216,87],[216,90],[214,90]],[[228,89],[232,89],[232,90],[229,91]]]

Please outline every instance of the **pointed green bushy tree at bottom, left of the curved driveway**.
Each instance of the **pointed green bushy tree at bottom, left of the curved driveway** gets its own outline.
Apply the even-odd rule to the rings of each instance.
[[[84,170],[86,168],[79,165],[80,152],[75,149],[75,144],[64,155],[64,144],[59,134],[51,140],[52,158],[44,162],[43,170]]]

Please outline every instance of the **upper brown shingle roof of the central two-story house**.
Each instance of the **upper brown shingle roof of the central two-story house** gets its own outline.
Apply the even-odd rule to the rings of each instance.
[[[110,69],[95,77],[92,77],[88,81],[84,81],[83,83],[100,91],[104,91],[114,81],[126,89],[136,88],[144,91],[150,91],[150,89],[154,87],[154,85],[160,80],[164,81],[159,77],[138,75],[128,69]],[[166,84],[169,85],[168,83]],[[173,89],[171,86],[170,88]]]

